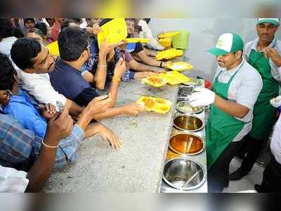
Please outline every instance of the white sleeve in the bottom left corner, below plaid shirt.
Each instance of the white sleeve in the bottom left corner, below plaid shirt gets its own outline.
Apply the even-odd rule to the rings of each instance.
[[[0,165],[0,192],[23,193],[27,188],[27,173]]]

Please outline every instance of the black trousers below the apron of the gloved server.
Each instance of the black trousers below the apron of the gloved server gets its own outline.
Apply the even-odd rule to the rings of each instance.
[[[222,192],[229,184],[229,165],[242,141],[230,142],[208,170],[208,192]]]

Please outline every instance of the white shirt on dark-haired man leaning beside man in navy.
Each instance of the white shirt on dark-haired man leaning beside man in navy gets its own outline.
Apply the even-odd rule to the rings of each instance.
[[[37,101],[41,103],[51,103],[55,107],[56,101],[60,101],[65,105],[67,98],[53,89],[48,73],[30,74],[22,70],[17,70],[17,72],[20,87],[34,96]]]

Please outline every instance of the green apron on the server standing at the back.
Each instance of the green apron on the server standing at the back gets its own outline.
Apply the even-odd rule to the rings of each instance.
[[[253,111],[253,126],[249,133],[254,139],[268,139],[275,122],[276,108],[270,105],[271,98],[278,96],[279,84],[271,74],[269,59],[263,53],[251,49],[249,64],[258,70],[263,79],[263,88]]]

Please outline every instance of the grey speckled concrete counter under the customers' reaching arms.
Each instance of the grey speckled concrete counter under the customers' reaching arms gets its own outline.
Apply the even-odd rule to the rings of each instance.
[[[156,89],[141,80],[122,82],[117,106],[136,101],[141,95],[159,96],[174,104],[177,94],[178,86]],[[103,120],[123,140],[122,149],[113,150],[100,136],[82,141],[78,160],[55,170],[44,191],[157,193],[173,117],[174,106],[166,115],[142,113]]]

